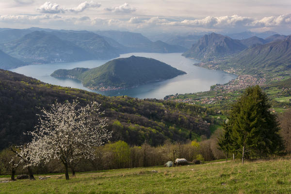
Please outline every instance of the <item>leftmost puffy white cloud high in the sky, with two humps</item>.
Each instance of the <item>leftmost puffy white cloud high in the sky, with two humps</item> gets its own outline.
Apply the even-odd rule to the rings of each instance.
[[[60,7],[57,3],[51,3],[49,1],[45,2],[43,5],[41,5],[39,8],[37,8],[37,11],[41,13],[47,13],[47,14],[59,14],[59,13],[65,13],[65,12],[74,12],[79,13],[84,11],[87,8],[98,8],[101,4],[94,2],[94,1],[85,1],[80,3],[77,7],[73,8],[65,8]]]

